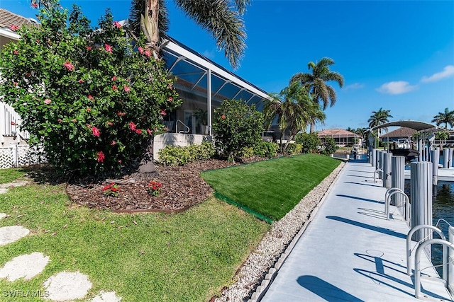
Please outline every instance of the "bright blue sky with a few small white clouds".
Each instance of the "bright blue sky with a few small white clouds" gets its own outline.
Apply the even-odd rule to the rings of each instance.
[[[107,7],[116,20],[128,17],[130,1],[73,2],[96,23]],[[214,40],[185,17],[173,1],[169,34],[231,69]],[[28,0],[1,0],[0,7],[26,17]],[[390,120],[431,122],[454,110],[454,1],[253,0],[244,16],[248,48],[236,74],[267,92],[279,92],[308,62],[331,57],[344,76],[336,104],[317,129],[367,127],[372,111]]]

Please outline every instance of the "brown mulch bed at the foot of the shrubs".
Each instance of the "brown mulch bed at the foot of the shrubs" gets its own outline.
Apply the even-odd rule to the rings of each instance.
[[[209,159],[196,161],[184,166],[156,165],[158,174],[154,180],[162,183],[159,196],[147,192],[148,181],[135,180],[133,183],[118,184],[118,197],[106,196],[102,188],[109,182],[94,182],[86,179],[72,180],[67,183],[67,194],[73,202],[95,209],[114,211],[182,211],[194,204],[203,202],[213,189],[204,182],[200,173],[204,170],[226,168],[240,163],[260,161],[265,158],[246,158],[240,162],[228,163],[225,160]],[[126,176],[124,178],[128,180]]]

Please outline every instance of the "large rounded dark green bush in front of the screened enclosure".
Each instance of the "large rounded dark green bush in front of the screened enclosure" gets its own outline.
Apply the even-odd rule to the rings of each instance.
[[[245,147],[253,147],[262,141],[262,112],[254,105],[246,105],[241,100],[224,100],[221,107],[214,110],[214,139],[216,151],[233,159],[240,156]]]

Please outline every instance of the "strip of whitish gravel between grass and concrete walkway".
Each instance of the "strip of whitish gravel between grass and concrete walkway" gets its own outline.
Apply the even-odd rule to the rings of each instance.
[[[222,296],[216,298],[216,302],[260,301],[344,166],[344,162],[338,165],[328,177],[306,194],[292,211],[272,224],[270,232],[265,234],[240,268],[236,283],[224,290]]]

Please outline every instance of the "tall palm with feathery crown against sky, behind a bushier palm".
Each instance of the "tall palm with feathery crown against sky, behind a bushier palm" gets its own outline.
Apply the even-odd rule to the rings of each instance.
[[[324,57],[317,63],[309,62],[307,66],[309,70],[312,70],[312,73],[300,72],[290,79],[290,83],[298,81],[306,87],[307,91],[311,93],[314,102],[320,104],[322,101],[323,110],[328,107],[330,102],[330,106],[332,107],[337,100],[336,91],[326,82],[336,81],[341,88],[343,86],[343,76],[329,69],[329,66],[332,64],[334,64],[334,60],[328,57]],[[314,124],[311,124],[311,132],[314,132]]]

